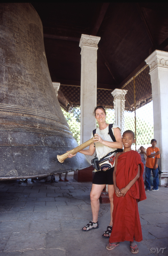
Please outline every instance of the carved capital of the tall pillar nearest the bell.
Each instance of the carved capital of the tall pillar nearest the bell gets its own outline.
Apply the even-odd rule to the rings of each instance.
[[[92,49],[95,48],[97,50],[98,49],[97,45],[99,41],[100,41],[100,37],[82,34],[80,38],[79,46],[81,50],[83,48],[92,48]]]

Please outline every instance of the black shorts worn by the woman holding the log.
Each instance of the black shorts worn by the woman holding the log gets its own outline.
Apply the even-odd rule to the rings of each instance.
[[[114,167],[106,171],[95,172],[92,183],[98,184],[98,185],[103,185],[103,184],[113,185],[113,171],[114,171]]]

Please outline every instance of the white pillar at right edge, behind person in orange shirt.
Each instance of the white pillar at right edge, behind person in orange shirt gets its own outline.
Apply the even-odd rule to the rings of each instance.
[[[160,185],[168,183],[168,52],[155,50],[146,60],[152,83],[154,138],[160,148]]]

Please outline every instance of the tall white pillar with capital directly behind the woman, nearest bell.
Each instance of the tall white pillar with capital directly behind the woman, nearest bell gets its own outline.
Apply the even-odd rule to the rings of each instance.
[[[91,137],[96,128],[93,110],[97,104],[97,45],[100,37],[81,35],[80,144]]]

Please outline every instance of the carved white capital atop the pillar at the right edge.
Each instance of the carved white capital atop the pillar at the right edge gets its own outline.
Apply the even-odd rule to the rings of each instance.
[[[149,65],[150,72],[157,67],[168,68],[168,52],[155,50],[145,62]]]

